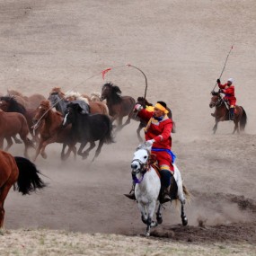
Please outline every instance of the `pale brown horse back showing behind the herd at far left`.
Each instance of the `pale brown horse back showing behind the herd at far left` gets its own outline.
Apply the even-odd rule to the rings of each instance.
[[[40,102],[42,100],[45,100],[45,97],[40,93],[34,93],[30,96],[25,96],[15,90],[7,90],[7,93],[15,96],[16,98],[19,97],[21,101],[23,100],[22,102],[24,104],[24,107],[27,109],[36,109],[39,106]]]

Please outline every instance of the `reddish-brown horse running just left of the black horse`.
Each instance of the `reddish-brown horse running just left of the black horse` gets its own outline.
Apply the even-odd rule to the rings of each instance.
[[[34,161],[39,154],[41,154],[43,158],[47,158],[45,148],[54,142],[63,144],[61,152],[62,160],[66,160],[71,151],[76,155],[75,141],[72,139],[71,126],[67,126],[66,128],[62,127],[62,114],[58,111],[53,111],[50,107],[50,102],[47,100],[40,102],[40,106],[33,118],[33,122],[36,124],[35,128],[38,127],[42,120],[44,120],[44,122],[40,128],[40,141],[36,149]],[[65,154],[66,146],[69,147]]]

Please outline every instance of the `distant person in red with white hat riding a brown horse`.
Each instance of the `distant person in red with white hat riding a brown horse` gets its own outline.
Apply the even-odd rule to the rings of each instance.
[[[220,80],[217,79],[216,83],[219,87],[219,93],[225,93],[224,100],[226,100],[229,103],[229,114],[230,119],[234,120],[234,106],[236,102],[236,98],[234,97],[234,79],[229,78],[226,82],[226,84],[220,84]]]

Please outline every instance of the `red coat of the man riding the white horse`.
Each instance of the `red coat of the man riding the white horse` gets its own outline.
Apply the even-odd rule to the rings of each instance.
[[[154,112],[149,112],[147,110],[140,110],[137,113],[137,116],[146,122],[153,117]],[[145,133],[146,140],[154,138],[154,144],[152,146],[152,153],[156,155],[158,165],[161,170],[174,171],[172,165],[172,156],[165,151],[156,151],[156,149],[163,148],[169,149],[172,148],[172,119],[168,117],[163,118],[158,121],[157,119],[152,119],[150,127]],[[155,150],[154,150],[155,148]]]

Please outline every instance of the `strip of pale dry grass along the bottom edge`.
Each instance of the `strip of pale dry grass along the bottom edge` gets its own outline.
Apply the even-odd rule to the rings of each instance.
[[[140,236],[81,234],[47,229],[1,232],[0,255],[255,255],[246,243],[177,243]]]

